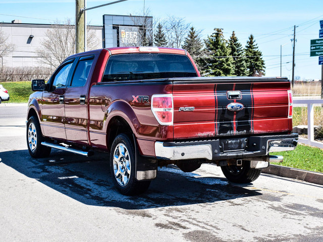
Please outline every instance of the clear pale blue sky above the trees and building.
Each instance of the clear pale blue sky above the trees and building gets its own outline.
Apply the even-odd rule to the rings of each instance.
[[[93,7],[113,0],[87,0]],[[89,10],[87,22],[102,25],[104,14],[140,15],[143,7],[154,19],[169,16],[185,18],[201,31],[201,38],[223,28],[228,39],[235,31],[245,46],[253,34],[265,61],[265,76],[280,76],[280,46],[282,46],[282,76],[292,78],[294,25],[296,25],[295,77],[321,79],[318,57],[309,57],[310,39],[317,39],[323,20],[322,0],[128,0],[115,5]],[[23,23],[53,23],[75,19],[75,0],[0,0],[0,22],[20,19]]]

